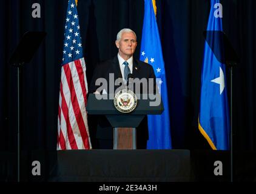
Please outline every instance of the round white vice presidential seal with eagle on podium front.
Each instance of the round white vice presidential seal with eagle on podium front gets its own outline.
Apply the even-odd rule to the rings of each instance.
[[[120,90],[114,98],[115,108],[122,113],[132,112],[137,105],[137,96],[131,90]]]

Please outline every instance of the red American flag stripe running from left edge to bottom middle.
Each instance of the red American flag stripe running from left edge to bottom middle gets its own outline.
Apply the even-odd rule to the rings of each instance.
[[[64,65],[64,67],[65,66],[69,67],[69,65]],[[66,125],[67,125],[67,137],[69,138],[69,144],[72,150],[73,149],[77,150],[78,147],[76,145],[75,136],[73,135],[72,127],[69,121],[69,109],[67,107],[67,102],[63,93],[62,82],[61,82],[61,98],[62,98],[61,107],[62,107],[62,112],[66,121]]]

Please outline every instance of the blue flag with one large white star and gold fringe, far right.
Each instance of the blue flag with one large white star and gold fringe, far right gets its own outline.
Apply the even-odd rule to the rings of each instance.
[[[211,1],[207,30],[222,31],[222,16],[220,17],[217,10],[220,8],[219,2]],[[215,45],[221,45],[220,39],[214,36],[212,38]],[[218,61],[206,42],[201,72],[198,128],[214,150],[229,150],[230,125],[226,83],[225,66]]]

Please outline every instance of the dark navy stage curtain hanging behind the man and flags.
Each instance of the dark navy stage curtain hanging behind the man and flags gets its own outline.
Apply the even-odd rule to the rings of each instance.
[[[22,150],[55,150],[59,81],[67,0],[36,1],[41,18],[32,18],[30,0],[2,1],[0,7],[0,147],[16,150],[17,71],[8,59],[21,36],[45,31],[47,37],[29,64],[22,69]],[[225,0],[223,29],[240,57],[234,69],[234,146],[255,150],[255,47],[256,2]],[[209,17],[209,0],[158,0],[157,20],[169,92],[173,149],[210,149],[197,128],[201,65]],[[78,15],[90,83],[96,62],[116,55],[116,33],[132,28],[138,39],[135,57],[140,55],[144,1],[79,0]],[[228,71],[227,71],[228,72]],[[228,78],[229,78],[229,73]],[[229,87],[227,83],[227,87]],[[93,126],[89,128],[93,138]]]

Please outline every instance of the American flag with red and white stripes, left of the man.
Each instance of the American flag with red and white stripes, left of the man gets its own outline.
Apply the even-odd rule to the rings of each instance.
[[[75,0],[69,0],[59,91],[57,150],[92,149],[87,124],[86,63]]]

